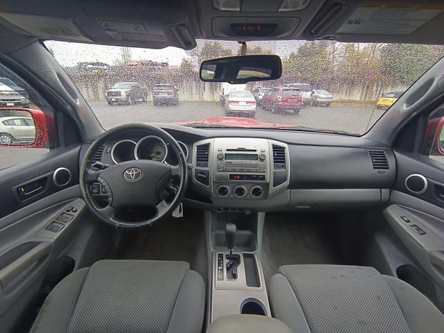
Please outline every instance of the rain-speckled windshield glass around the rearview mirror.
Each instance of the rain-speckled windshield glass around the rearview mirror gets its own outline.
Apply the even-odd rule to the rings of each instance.
[[[240,54],[237,42],[198,40],[189,51],[54,41],[45,45],[105,129],[159,122],[364,135],[444,55],[443,46],[420,44],[248,42],[247,54],[280,56],[282,77],[230,85],[203,82],[198,71],[205,59]],[[94,64],[94,69],[85,64]],[[257,94],[257,89],[264,93],[279,87],[282,94],[300,98]],[[231,96],[257,103],[234,108],[225,103]]]

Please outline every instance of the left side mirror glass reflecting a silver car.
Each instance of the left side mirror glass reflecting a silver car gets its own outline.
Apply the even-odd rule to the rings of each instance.
[[[32,144],[35,125],[31,117],[1,117],[0,145]]]

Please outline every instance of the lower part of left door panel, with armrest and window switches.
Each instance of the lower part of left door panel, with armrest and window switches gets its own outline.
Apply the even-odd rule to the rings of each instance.
[[[47,277],[60,275],[54,269],[58,263],[67,258],[73,263],[69,271],[60,268],[60,280],[105,255],[108,228],[94,219],[80,196],[74,185],[0,219],[1,332],[22,332],[21,318],[35,314]],[[65,216],[69,220],[62,222]],[[62,228],[51,231],[51,225]]]

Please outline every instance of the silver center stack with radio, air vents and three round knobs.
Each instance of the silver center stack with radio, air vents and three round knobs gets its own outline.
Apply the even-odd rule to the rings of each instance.
[[[263,205],[261,200],[289,185],[289,148],[283,142],[219,137],[196,142],[193,151],[194,187],[220,205],[218,210]]]

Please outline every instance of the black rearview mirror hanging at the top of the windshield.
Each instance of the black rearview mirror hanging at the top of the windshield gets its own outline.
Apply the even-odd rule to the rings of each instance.
[[[200,65],[200,80],[228,82],[276,80],[282,75],[279,56],[235,56],[205,60]]]

